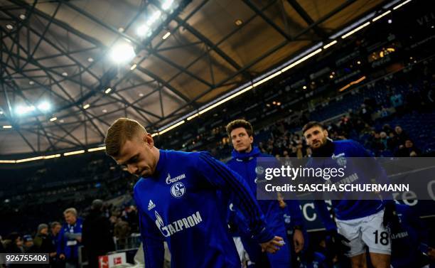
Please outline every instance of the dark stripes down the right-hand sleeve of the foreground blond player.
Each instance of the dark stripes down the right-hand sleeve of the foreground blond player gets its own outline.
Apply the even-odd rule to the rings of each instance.
[[[243,208],[245,208],[245,211],[248,213],[248,215],[254,215],[254,218],[247,217],[247,220],[249,220],[250,223],[249,227],[254,227],[254,232],[261,232],[264,226],[258,225],[258,223],[262,221],[261,215],[259,214],[259,207],[256,203],[252,202],[251,198],[249,198],[249,195],[251,195],[251,193],[247,191],[247,188],[241,187],[240,184],[235,182],[237,181],[237,178],[235,178],[234,174],[232,174],[231,171],[229,171],[228,169],[220,166],[210,157],[200,154],[200,159],[208,163],[210,167],[215,170],[216,173],[220,174],[222,176],[222,179],[224,179],[227,183],[227,185],[229,185],[238,193],[242,193],[241,195],[238,195],[241,205],[243,206]]]

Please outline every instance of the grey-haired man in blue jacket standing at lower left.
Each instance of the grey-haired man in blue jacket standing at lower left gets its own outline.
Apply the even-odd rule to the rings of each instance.
[[[82,245],[82,219],[77,218],[75,208],[67,208],[63,215],[65,223],[59,232],[58,256],[65,259],[65,268],[77,268],[78,249]]]

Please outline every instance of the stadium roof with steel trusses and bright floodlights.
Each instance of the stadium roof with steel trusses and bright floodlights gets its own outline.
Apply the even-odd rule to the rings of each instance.
[[[0,155],[158,132],[389,2],[0,0]]]

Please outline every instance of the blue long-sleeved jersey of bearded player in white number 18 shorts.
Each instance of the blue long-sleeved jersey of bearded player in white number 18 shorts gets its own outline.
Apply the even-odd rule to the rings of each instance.
[[[328,141],[331,142],[331,141]],[[372,166],[359,166],[358,164],[363,163],[363,161],[358,161],[358,164],[352,161],[352,157],[364,157],[372,159],[369,152],[358,142],[352,140],[342,140],[342,141],[332,141],[332,151],[333,153],[328,156],[323,156],[322,159],[311,158],[307,166],[311,167],[336,167],[339,168],[341,164],[345,162],[345,178],[357,178],[355,183],[370,183],[372,175],[382,174],[385,175],[382,168],[375,161],[370,161]],[[331,178],[332,183],[342,180],[343,178]],[[386,180],[386,178],[381,178]],[[355,195],[355,193],[352,193]],[[361,193],[362,195],[364,193]],[[335,228],[335,223],[331,220],[331,215],[326,208],[326,203],[323,200],[315,200],[316,209],[326,225],[327,230]],[[340,220],[352,220],[356,218],[363,218],[368,215],[377,213],[384,208],[384,204],[380,198],[374,200],[348,200],[346,199],[346,193],[343,195],[341,200],[332,200],[332,206],[335,213],[335,217]]]

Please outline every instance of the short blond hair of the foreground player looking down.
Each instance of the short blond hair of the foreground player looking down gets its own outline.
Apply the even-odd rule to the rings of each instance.
[[[139,122],[128,118],[119,118],[107,129],[106,154],[112,157],[119,156],[121,146],[125,141],[131,141],[140,132],[147,134],[146,129]]]

